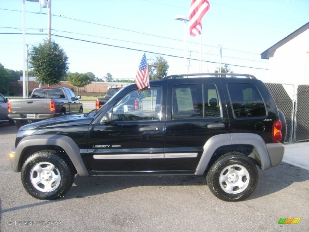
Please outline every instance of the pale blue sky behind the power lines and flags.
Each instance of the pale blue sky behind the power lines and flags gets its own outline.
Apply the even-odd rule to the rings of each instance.
[[[192,37],[188,24],[175,20],[188,17],[191,0],[51,2],[52,40],[68,56],[69,71],[98,78],[133,80],[144,52],[148,63],[162,56],[173,75],[200,72],[201,50],[201,72],[214,72],[222,46],[222,64],[267,82],[268,60],[260,54],[309,22],[309,0],[209,0],[202,36]],[[0,0],[0,63],[12,70],[23,69],[22,35],[6,33],[22,33],[22,6]],[[47,38],[47,8],[26,1],[25,9],[26,33],[42,34],[26,34],[31,49]],[[184,61],[184,38],[186,56],[196,60]]]

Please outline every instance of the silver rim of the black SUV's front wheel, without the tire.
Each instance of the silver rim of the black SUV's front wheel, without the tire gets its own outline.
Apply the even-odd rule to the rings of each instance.
[[[36,190],[51,192],[60,185],[61,175],[52,163],[40,162],[31,169],[30,180]]]

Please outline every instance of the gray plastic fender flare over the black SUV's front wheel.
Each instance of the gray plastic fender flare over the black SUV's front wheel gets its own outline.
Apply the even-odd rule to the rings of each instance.
[[[30,146],[38,145],[55,145],[63,148],[70,157],[74,167],[76,168],[79,176],[89,176],[89,173],[84,165],[80,150],[77,144],[70,137],[66,135],[30,135],[23,138],[16,150],[15,154],[22,154],[23,150]]]

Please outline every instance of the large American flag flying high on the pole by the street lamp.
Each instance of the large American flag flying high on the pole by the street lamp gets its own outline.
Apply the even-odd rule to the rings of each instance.
[[[210,4],[207,0],[192,0],[189,15],[189,31],[191,36],[202,33],[201,21],[209,8]]]

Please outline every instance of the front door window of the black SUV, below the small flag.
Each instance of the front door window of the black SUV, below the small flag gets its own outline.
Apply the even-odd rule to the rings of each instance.
[[[112,108],[115,121],[153,121],[161,119],[162,90],[152,87],[133,90]]]

